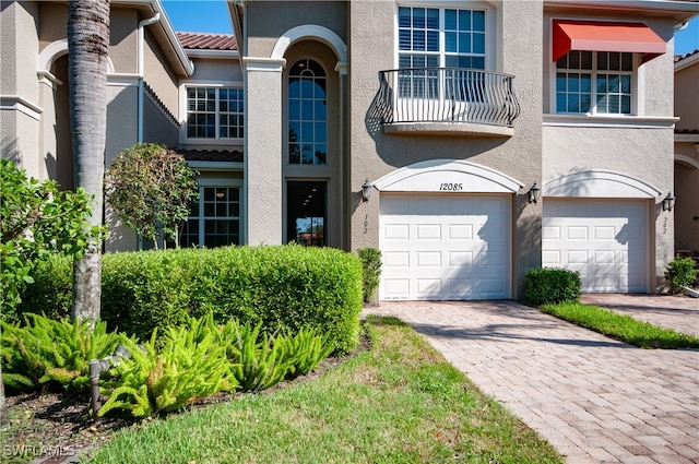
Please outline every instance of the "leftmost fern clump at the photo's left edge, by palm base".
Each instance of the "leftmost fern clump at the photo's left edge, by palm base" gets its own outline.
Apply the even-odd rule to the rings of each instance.
[[[2,380],[17,390],[46,390],[51,385],[84,390],[90,386],[91,359],[111,356],[127,337],[107,332],[97,321],[94,330],[83,321],[52,320],[25,314],[27,324],[2,324]]]

